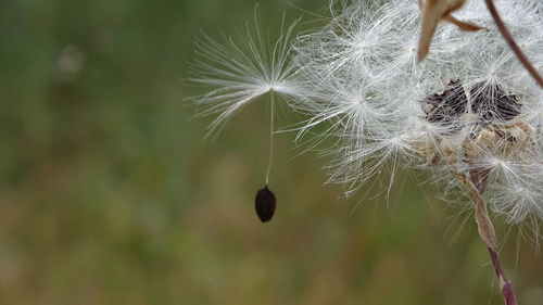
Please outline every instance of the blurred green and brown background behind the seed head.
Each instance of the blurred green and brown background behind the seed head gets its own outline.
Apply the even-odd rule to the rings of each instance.
[[[327,14],[265,1],[262,24],[292,3]],[[294,135],[257,220],[265,106],[202,141],[211,118],[184,102],[199,30],[235,34],[254,4],[0,1],[0,304],[502,304],[473,221],[435,189],[406,176],[389,201],[340,199]],[[543,259],[501,228],[519,304],[543,304]]]

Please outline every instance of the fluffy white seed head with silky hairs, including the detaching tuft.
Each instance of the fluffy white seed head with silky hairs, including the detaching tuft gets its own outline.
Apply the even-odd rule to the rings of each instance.
[[[384,3],[383,3],[384,2]],[[495,0],[513,36],[543,68],[543,2]],[[440,24],[430,53],[417,63],[416,0],[330,1],[332,17],[292,42],[291,30],[267,51],[229,41],[199,47],[198,97],[217,127],[269,90],[310,115],[302,135],[326,125],[334,137],[331,180],[357,189],[392,164],[427,169],[437,180],[469,177],[492,209],[510,223],[543,219],[543,94],[503,40],[483,1],[455,16],[484,27],[463,33]],[[321,129],[319,129],[321,130]],[[446,178],[444,178],[446,176]],[[393,179],[391,179],[392,181]],[[457,183],[444,189],[456,188]]]

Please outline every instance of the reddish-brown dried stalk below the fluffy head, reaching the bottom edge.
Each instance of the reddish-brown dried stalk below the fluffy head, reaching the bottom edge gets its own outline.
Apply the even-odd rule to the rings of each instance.
[[[487,203],[484,202],[481,192],[477,189],[476,185],[471,181],[470,178],[456,171],[453,171],[453,175],[466,187],[469,195],[476,203],[475,217],[477,228],[479,231],[479,236],[489,249],[490,257],[492,259],[492,265],[494,266],[494,271],[496,274],[497,280],[500,282],[504,302],[506,305],[517,305],[515,291],[513,290],[513,285],[510,284],[510,282],[505,278],[505,272],[502,268],[502,263],[500,262],[500,256],[496,249],[496,233],[494,231],[494,226],[492,225],[492,221],[489,217]]]

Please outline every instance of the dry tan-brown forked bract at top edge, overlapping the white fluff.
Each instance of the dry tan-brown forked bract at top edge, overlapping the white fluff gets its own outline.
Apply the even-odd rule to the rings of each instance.
[[[422,11],[420,40],[418,43],[419,62],[428,54],[433,34],[441,21],[452,23],[466,31],[483,29],[483,27],[459,21],[451,15],[452,12],[459,10],[464,5],[464,2],[465,0],[427,0],[426,2],[419,2],[420,10]]]

